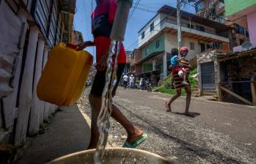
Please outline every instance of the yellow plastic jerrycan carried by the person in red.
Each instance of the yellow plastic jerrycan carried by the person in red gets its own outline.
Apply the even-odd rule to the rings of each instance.
[[[37,96],[55,105],[73,105],[84,90],[92,63],[93,56],[87,51],[76,51],[75,45],[59,43],[45,64]]]

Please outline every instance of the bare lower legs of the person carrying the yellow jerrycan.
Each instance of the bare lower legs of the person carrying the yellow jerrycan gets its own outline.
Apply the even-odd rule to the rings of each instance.
[[[97,127],[97,119],[98,114],[100,113],[101,108],[101,97],[95,97],[92,94],[89,94],[89,103],[92,108],[92,127],[91,127],[91,139],[89,141],[88,149],[94,149],[97,146],[98,138],[99,138],[99,132]],[[134,126],[131,122],[128,121],[128,119],[125,118],[125,116],[122,115],[120,110],[115,106],[112,105],[113,111],[111,113],[111,116],[117,120],[117,122],[120,122],[122,126],[125,128],[125,130],[128,133],[128,139],[127,141],[129,143],[134,142],[138,137],[140,137],[143,134],[142,130],[139,130],[137,127]]]

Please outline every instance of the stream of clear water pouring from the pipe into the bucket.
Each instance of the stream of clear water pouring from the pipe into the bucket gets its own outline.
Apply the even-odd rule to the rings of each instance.
[[[102,163],[106,148],[106,142],[109,135],[109,118],[112,111],[112,91],[114,88],[114,84],[117,83],[117,56],[120,52],[120,44],[121,42],[112,40],[111,46],[109,48],[109,58],[107,61],[108,67],[106,70],[106,83],[103,89],[103,100],[97,121],[100,137],[94,154],[95,164]]]

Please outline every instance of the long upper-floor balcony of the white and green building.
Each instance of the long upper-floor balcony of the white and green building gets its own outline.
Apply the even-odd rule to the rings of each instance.
[[[221,34],[216,34],[215,31],[205,28],[189,28],[188,23],[181,24],[181,30],[183,37],[190,37],[195,40],[202,40],[205,42],[230,42],[227,37],[223,37]],[[211,25],[209,25],[211,26]],[[171,34],[177,34],[177,20],[172,18],[164,18],[161,20],[161,30]]]

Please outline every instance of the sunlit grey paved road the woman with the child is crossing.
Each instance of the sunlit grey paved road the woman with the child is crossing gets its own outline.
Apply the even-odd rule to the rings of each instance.
[[[86,94],[86,93],[85,93]],[[194,118],[167,113],[170,96],[118,89],[115,102],[149,138],[139,146],[177,163],[256,163],[256,108],[192,99]],[[173,104],[183,112],[184,97]],[[84,113],[90,114],[86,95]],[[109,146],[122,146],[125,130],[111,120]]]

